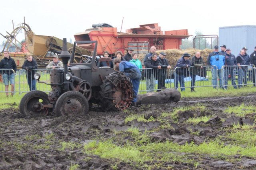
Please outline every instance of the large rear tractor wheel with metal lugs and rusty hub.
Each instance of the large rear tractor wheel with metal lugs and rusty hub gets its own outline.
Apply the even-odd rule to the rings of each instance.
[[[132,104],[133,84],[124,73],[109,74],[100,88],[100,105],[105,110],[125,110]]]

